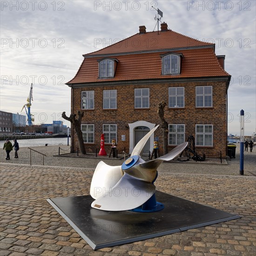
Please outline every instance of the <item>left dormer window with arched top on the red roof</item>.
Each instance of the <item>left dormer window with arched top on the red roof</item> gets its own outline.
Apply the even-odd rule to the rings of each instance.
[[[99,78],[110,78],[115,76],[117,59],[102,59],[99,62]]]

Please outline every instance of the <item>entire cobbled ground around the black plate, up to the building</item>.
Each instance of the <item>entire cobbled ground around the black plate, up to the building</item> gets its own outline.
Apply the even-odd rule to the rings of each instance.
[[[45,166],[36,155],[32,155],[32,164],[37,165],[28,165],[30,156],[21,153],[22,148],[20,158],[10,161],[0,152],[0,256],[256,255],[255,152],[245,152],[245,175],[239,175],[237,147],[236,158],[222,164],[164,162],[155,182],[162,192],[241,219],[94,251],[46,199],[89,195],[94,168],[101,159],[53,157],[57,155],[53,150],[58,149],[34,149],[41,152],[42,148],[47,155]]]

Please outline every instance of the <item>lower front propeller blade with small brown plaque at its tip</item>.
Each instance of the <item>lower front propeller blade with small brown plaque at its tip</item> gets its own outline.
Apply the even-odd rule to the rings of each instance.
[[[115,187],[101,193],[91,207],[105,211],[127,211],[141,206],[155,193],[155,185],[124,174]]]

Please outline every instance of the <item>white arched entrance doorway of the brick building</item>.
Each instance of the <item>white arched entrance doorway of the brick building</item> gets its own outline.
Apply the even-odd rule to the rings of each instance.
[[[131,154],[133,152],[133,149],[134,149],[135,145],[136,145],[135,143],[138,143],[138,141],[140,141],[139,137],[143,133],[147,134],[149,132],[149,130],[153,129],[155,127],[155,123],[150,123],[150,122],[147,122],[147,121],[136,121],[134,123],[129,123],[128,125],[129,125],[129,129],[130,129],[130,133],[129,133],[129,154]],[[141,127],[146,127],[146,128],[141,128]],[[139,129],[136,129],[136,128],[139,128]],[[135,135],[136,135],[136,140],[135,140]],[[149,148],[148,151],[149,150],[152,151],[152,149],[154,147],[154,134],[152,134],[150,136],[150,139],[148,140],[147,143],[149,145],[148,146],[148,148]],[[144,147],[144,152],[145,152],[145,148],[146,148],[146,146]]]

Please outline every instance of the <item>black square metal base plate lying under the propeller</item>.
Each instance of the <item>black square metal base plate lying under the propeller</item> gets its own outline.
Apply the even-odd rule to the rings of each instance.
[[[160,191],[155,195],[164,209],[153,213],[93,209],[90,195],[51,198],[47,202],[94,250],[241,218]]]

